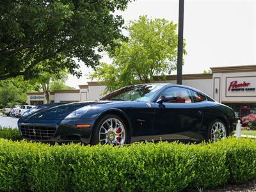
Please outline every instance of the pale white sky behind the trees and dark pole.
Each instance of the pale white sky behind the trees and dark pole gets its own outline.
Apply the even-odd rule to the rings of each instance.
[[[179,0],[137,0],[122,15],[125,24],[140,15],[177,23]],[[184,39],[186,51],[183,74],[199,74],[210,67],[256,64],[256,0],[185,0]],[[111,62],[108,55],[102,60]],[[83,76],[68,76],[67,85],[78,88],[91,81],[92,69],[79,63]],[[172,72],[176,74],[176,72]]]

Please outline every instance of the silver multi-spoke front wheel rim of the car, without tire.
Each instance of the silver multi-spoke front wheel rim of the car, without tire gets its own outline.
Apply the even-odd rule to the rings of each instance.
[[[108,118],[100,126],[99,143],[101,145],[124,145],[125,127],[117,118]]]

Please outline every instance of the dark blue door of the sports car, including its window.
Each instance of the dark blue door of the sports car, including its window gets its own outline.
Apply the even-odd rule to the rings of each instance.
[[[172,102],[156,103],[154,140],[188,140],[200,129],[203,113],[198,102],[193,102],[191,90],[170,86],[160,95],[173,97]]]

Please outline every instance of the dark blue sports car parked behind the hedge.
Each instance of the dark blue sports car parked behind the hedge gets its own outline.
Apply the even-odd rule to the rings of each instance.
[[[141,140],[220,140],[234,111],[177,84],[137,84],[92,102],[38,106],[19,119],[26,140],[122,145]]]

